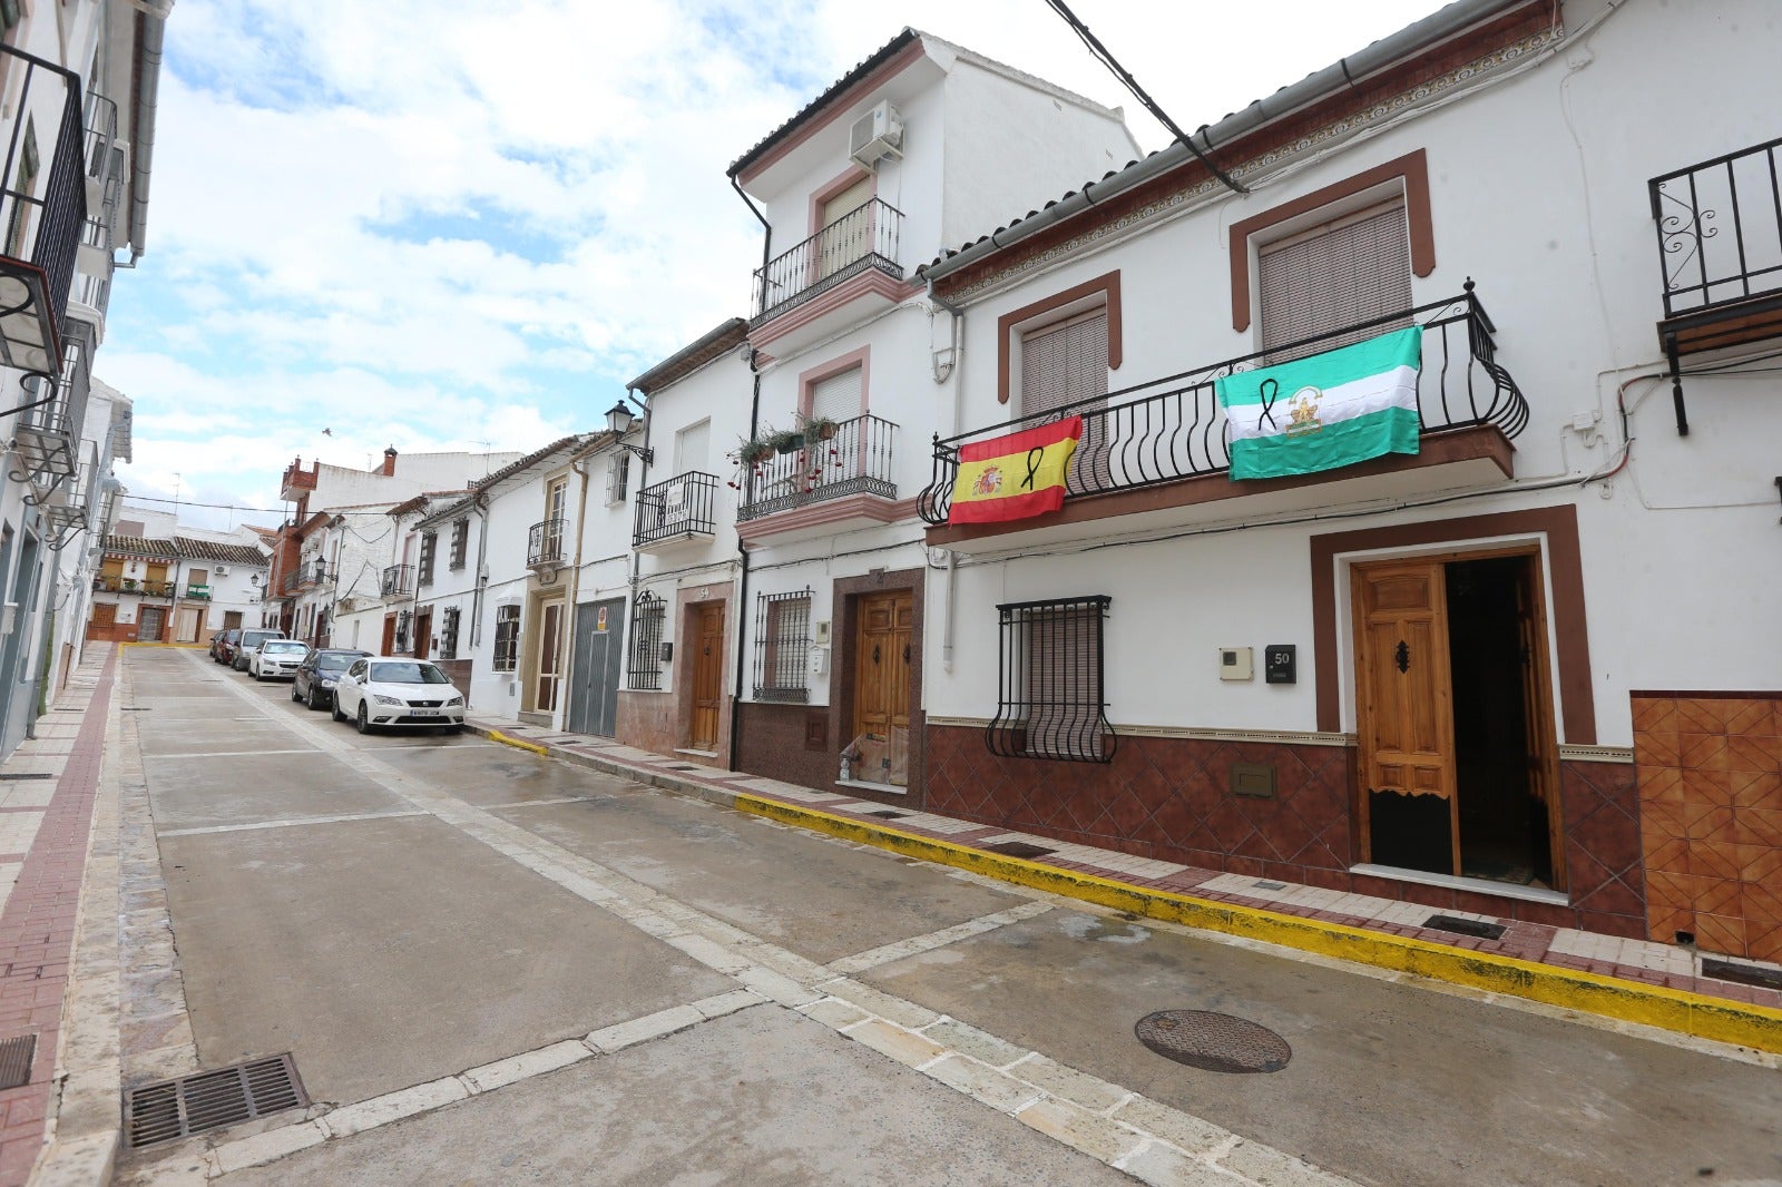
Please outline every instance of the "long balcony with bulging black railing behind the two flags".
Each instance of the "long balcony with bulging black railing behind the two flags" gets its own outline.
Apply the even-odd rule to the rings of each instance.
[[[1388,454],[1292,478],[1230,478],[1230,426],[1214,390],[1215,380],[1271,365],[1283,355],[1303,358],[1367,332],[1385,333],[1413,324],[1422,330],[1417,390],[1420,453]],[[1492,319],[1474,296],[1472,282],[1467,282],[1467,291],[1449,301],[1303,339],[1278,348],[1274,356],[1230,358],[1105,397],[936,438],[934,481],[918,495],[918,512],[934,524],[928,544],[971,551],[973,540],[982,538],[989,547],[998,536],[1035,528],[1067,538],[1082,535],[1069,524],[1114,515],[1133,517],[1121,526],[1123,531],[1192,522],[1198,504],[1233,497],[1265,497],[1256,506],[1272,513],[1328,506],[1344,497],[1417,494],[1511,476],[1509,440],[1527,424],[1529,406],[1516,381],[1497,364],[1493,333]],[[1062,510],[1030,520],[948,524],[962,446],[1066,415],[1083,417],[1083,435],[1066,474]],[[1333,492],[1342,483],[1358,488]]]

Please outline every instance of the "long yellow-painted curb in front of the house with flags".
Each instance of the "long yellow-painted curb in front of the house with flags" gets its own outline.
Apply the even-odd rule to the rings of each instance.
[[[515,743],[526,745],[526,743]],[[531,749],[531,747],[529,747]],[[1242,936],[1301,952],[1415,973],[1490,993],[1502,993],[1559,1009],[1691,1034],[1718,1043],[1782,1052],[1782,1011],[1727,1002],[1700,993],[1647,986],[1534,961],[1449,948],[1410,936],[1369,932],[1342,923],[1279,914],[1262,907],[1208,902],[1189,895],[1126,886],[1071,870],[1055,870],[1019,857],[987,854],[884,825],[868,825],[809,807],[793,807],[756,795],[738,795],[736,809],[814,832],[861,841],[943,866],[969,870],[1016,886],[1167,920],[1208,932]]]

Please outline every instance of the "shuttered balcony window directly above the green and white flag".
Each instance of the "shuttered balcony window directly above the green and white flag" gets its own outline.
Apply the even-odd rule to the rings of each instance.
[[[1390,321],[1349,326],[1411,308],[1411,241],[1404,201],[1358,210],[1256,250],[1262,349],[1269,362],[1304,358],[1397,330]],[[1279,349],[1315,335],[1333,335]]]

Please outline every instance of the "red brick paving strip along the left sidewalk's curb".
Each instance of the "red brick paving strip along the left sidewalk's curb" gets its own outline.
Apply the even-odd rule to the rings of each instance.
[[[64,995],[116,667],[116,647],[103,659],[89,656],[57,699],[57,708],[86,713],[0,913],[0,1041],[37,1039],[30,1080],[0,1091],[0,1187],[30,1176],[59,1084]]]

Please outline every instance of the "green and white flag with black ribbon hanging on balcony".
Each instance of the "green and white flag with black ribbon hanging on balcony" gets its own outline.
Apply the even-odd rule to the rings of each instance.
[[[1417,453],[1424,332],[1394,330],[1278,367],[1214,380],[1231,424],[1231,478],[1281,478]]]

